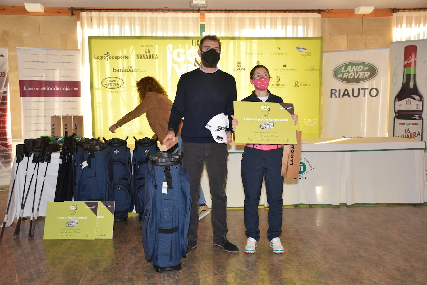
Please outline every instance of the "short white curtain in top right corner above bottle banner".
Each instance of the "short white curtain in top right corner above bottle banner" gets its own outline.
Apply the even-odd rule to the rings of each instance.
[[[393,13],[393,41],[427,38],[427,12]]]

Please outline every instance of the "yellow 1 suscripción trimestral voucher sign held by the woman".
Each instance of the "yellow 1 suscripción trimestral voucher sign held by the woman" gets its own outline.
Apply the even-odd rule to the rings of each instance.
[[[296,144],[293,104],[234,102],[237,144]]]

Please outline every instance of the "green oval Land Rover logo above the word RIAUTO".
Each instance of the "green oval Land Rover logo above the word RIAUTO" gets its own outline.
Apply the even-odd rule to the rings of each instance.
[[[361,83],[374,79],[378,68],[368,62],[345,62],[332,71],[332,76],[345,83]]]

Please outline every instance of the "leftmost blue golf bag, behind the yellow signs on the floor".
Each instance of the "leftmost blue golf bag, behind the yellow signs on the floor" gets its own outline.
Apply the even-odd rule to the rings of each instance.
[[[113,160],[107,144],[85,138],[73,154],[75,201],[114,201]]]

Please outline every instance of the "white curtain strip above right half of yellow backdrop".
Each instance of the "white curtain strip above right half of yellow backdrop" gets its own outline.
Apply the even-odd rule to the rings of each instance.
[[[205,13],[206,35],[319,37],[321,15],[311,13]]]

